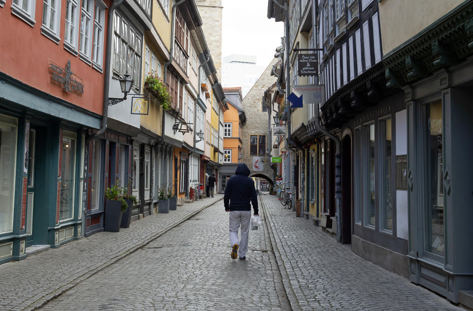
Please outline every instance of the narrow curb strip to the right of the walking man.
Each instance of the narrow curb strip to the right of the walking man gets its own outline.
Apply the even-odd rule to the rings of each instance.
[[[296,294],[294,293],[294,288],[292,287],[291,281],[289,280],[289,275],[287,274],[286,266],[284,265],[284,260],[282,259],[281,252],[279,251],[279,248],[276,244],[276,240],[274,238],[274,233],[272,231],[272,226],[271,226],[271,216],[270,214],[266,211],[266,201],[260,196],[260,201],[261,205],[263,208],[263,213],[265,214],[265,222],[266,222],[266,227],[268,228],[268,232],[270,234],[270,242],[271,242],[271,248],[272,248],[272,253],[274,254],[276,258],[276,263],[279,268],[279,272],[281,274],[281,279],[282,283],[284,285],[284,290],[286,291],[286,297],[289,300],[289,305],[291,307],[292,311],[302,311],[301,306],[299,305],[299,300],[296,297]]]

